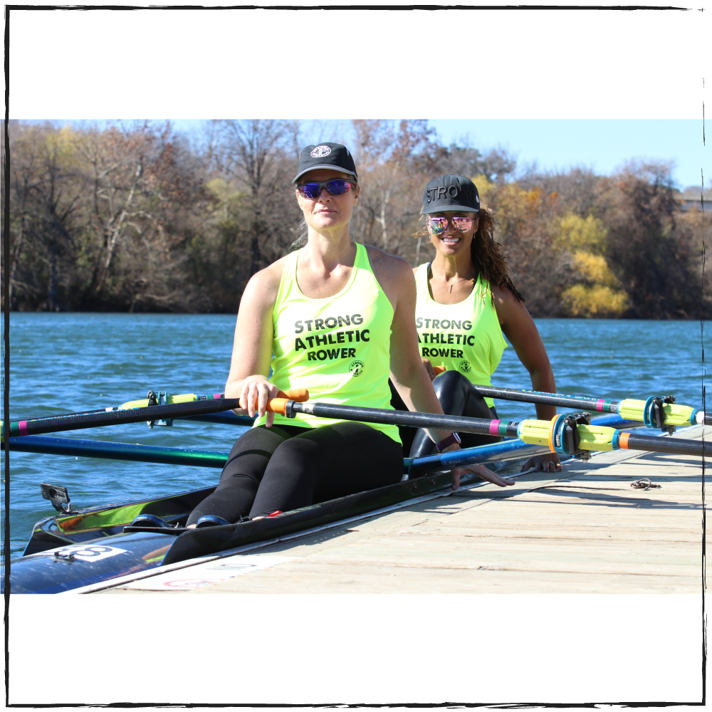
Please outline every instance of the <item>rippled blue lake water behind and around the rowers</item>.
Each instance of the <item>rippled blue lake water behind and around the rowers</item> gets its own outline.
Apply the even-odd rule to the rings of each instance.
[[[699,322],[542,319],[557,390],[605,398],[675,394],[702,407]],[[10,320],[11,419],[115,406],[171,394],[222,392],[232,315],[13,313]],[[705,331],[706,348],[710,345]],[[528,388],[528,373],[505,350],[493,384]],[[497,401],[503,419],[535,417],[534,407]],[[61,433],[80,439],[229,451],[243,429],[176,421]],[[3,468],[3,477],[5,469]],[[209,486],[219,470],[11,452],[11,551],[20,555],[32,525],[54,510],[40,483],[67,486],[77,507],[110,504]]]

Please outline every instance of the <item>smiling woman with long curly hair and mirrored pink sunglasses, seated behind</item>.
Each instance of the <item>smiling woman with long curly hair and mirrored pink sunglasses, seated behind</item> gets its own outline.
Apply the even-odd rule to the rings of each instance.
[[[539,332],[513,285],[507,262],[493,239],[491,211],[480,205],[475,184],[446,175],[429,182],[423,194],[426,231],[436,249],[432,262],[414,269],[417,283],[416,328],[423,363],[447,414],[495,418],[494,402],[476,384],[491,384],[491,375],[507,347],[506,335],[526,369],[532,387],[556,392],[554,375]],[[436,375],[434,367],[445,369]],[[394,394],[394,406],[403,408]],[[537,405],[537,416],[550,420],[556,408]],[[402,436],[407,436],[402,429]],[[463,446],[497,441],[496,436],[461,434]],[[410,454],[432,454],[430,440],[419,430]],[[523,469],[560,470],[555,454],[527,461]]]

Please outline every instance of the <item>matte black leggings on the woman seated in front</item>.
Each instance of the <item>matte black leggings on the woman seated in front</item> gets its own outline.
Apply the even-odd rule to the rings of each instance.
[[[236,522],[286,512],[393,484],[402,475],[401,446],[368,425],[261,425],[236,441],[219,485],[187,524],[206,514]]]

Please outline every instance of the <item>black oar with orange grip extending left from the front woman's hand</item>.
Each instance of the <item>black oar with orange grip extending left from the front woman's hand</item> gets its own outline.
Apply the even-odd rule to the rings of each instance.
[[[286,392],[280,391],[278,397],[270,399],[268,409],[272,409],[273,407],[281,408],[288,399],[289,402],[304,402],[308,398],[309,392],[305,388],[295,388]],[[100,428],[107,425],[124,425],[127,423],[140,423],[150,420],[182,418],[239,408],[239,398],[220,398],[184,403],[150,405],[132,408],[130,410],[112,410],[84,415],[72,414],[56,418],[18,420],[10,423],[10,436],[41,435],[43,433],[57,433],[63,430],[81,430],[86,428]],[[2,428],[3,426],[0,426],[0,435],[3,432]]]

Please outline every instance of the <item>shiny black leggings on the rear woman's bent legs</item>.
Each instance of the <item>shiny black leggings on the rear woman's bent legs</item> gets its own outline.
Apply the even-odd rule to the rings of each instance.
[[[497,417],[497,411],[490,408],[473,384],[457,371],[442,372],[435,377],[433,387],[446,415],[464,415],[468,418]],[[391,405],[396,410],[407,410],[393,384],[391,384]],[[409,452],[410,457],[436,454],[435,443],[424,429],[402,427],[399,428],[399,432],[403,441],[403,450]],[[493,435],[458,434],[462,440],[462,447],[476,447],[501,441],[500,437]]]

